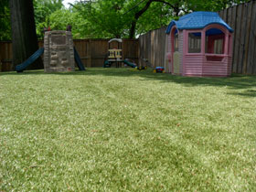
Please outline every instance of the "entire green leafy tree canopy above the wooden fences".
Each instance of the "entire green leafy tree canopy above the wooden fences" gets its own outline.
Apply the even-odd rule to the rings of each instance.
[[[37,37],[44,27],[65,30],[75,38],[137,37],[192,11],[219,11],[249,0],[33,0]],[[10,39],[8,0],[0,1],[0,40]]]

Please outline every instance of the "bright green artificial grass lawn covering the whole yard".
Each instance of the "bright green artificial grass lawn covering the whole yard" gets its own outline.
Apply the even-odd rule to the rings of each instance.
[[[255,105],[255,76],[0,73],[0,191],[255,191]]]

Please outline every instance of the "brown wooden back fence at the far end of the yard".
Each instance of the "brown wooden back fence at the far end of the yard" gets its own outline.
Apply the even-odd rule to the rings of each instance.
[[[110,39],[74,39],[74,46],[80,54],[85,67],[102,67],[108,55],[108,41]],[[44,46],[43,41],[38,41],[39,48]],[[139,40],[123,39],[123,58],[132,59],[138,63]],[[2,71],[13,70],[12,66],[12,43],[0,42],[0,62]],[[1,70],[0,70],[1,71]]]

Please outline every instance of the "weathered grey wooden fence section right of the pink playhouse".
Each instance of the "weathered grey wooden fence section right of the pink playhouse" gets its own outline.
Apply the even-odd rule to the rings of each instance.
[[[235,31],[233,72],[256,74],[256,1],[224,9],[219,16]]]

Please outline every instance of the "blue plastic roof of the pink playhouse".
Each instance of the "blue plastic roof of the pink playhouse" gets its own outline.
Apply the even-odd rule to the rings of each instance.
[[[217,13],[198,11],[181,16],[178,21],[172,20],[166,29],[166,33],[169,34],[173,26],[178,29],[198,29],[207,27],[210,24],[219,24],[226,27],[231,33],[234,31]]]

